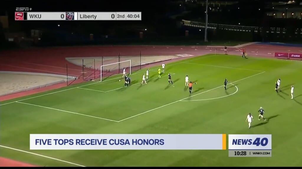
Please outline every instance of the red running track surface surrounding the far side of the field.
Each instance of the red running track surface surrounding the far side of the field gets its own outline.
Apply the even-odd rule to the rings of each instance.
[[[274,57],[275,52],[302,53],[302,51],[300,51],[301,48],[297,47],[253,44],[247,45],[244,48],[246,48],[248,55],[253,57]],[[242,48],[229,47],[228,54],[242,55],[241,50]],[[214,53],[215,48],[207,46],[82,46],[3,51],[0,54],[0,71],[38,72],[66,75],[67,64],[68,75],[79,77],[82,75],[82,66],[77,66],[68,62],[66,57],[117,57],[119,54],[120,56],[140,56],[140,52],[142,56],[176,54],[200,56]],[[224,53],[223,49],[218,47],[216,52],[217,54]],[[177,60],[187,58],[188,57],[183,57]],[[177,60],[170,60],[170,62]],[[76,81],[76,83],[79,82],[82,81]],[[40,89],[10,94],[0,97],[0,101],[62,88],[64,86],[66,86],[65,83],[55,84]]]

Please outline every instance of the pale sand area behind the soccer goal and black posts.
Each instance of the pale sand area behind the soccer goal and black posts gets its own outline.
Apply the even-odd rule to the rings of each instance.
[[[160,61],[165,61],[165,60],[171,60],[171,59],[176,59],[179,58],[179,56],[175,55],[161,55],[161,56],[123,56],[120,57],[69,57],[66,58],[66,60],[70,63],[73,63],[78,66],[85,66],[86,68],[91,68],[91,69],[100,69],[102,65],[108,65],[111,63],[117,63],[117,62],[122,62],[126,60],[131,60],[131,66],[138,66],[140,64],[148,64],[148,63],[155,63],[155,62],[160,62]],[[110,70],[116,70],[118,69],[118,64],[112,64],[109,66],[104,66],[103,69],[110,69]],[[120,67],[129,67],[130,62],[124,62],[120,63]]]

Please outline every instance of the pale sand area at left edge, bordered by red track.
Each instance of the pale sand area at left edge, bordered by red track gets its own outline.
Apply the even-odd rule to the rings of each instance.
[[[0,96],[66,81],[66,76],[31,72],[0,72]]]

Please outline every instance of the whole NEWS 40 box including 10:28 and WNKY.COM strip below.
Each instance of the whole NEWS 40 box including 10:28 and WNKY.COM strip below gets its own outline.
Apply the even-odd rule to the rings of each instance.
[[[271,134],[229,134],[229,157],[271,157]]]

